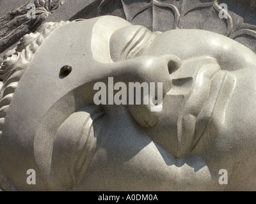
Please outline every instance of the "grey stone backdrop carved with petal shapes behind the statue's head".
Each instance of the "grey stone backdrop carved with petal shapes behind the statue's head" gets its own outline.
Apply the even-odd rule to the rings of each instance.
[[[1,9],[0,16],[24,3],[28,3],[28,0],[1,0],[0,7],[4,9]],[[227,19],[219,17],[221,3],[228,6]],[[45,18],[46,20],[42,19],[42,22],[93,18],[101,15],[122,17],[132,24],[144,25],[152,31],[177,28],[209,30],[239,41],[256,52],[256,1],[254,0],[67,0],[63,6]],[[26,31],[29,32],[33,30]],[[8,50],[15,47],[15,43],[9,44]],[[6,50],[0,51],[0,58],[3,58],[5,52]]]

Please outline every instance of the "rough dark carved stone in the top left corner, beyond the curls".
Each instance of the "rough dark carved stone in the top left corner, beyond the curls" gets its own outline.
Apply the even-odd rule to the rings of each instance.
[[[0,52],[8,50],[25,34],[36,29],[64,0],[31,0],[0,18]],[[28,15],[29,13],[29,15]],[[29,17],[28,17],[29,16]]]

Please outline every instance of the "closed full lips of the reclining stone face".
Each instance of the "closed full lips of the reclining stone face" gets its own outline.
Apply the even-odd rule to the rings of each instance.
[[[216,101],[227,78],[228,71],[221,71],[220,69],[212,70],[212,73],[205,77],[204,72],[209,71],[207,66],[202,67],[196,74],[195,85],[185,101],[178,120],[177,157],[187,156],[191,150],[195,149],[198,140],[202,138],[204,130],[212,119]],[[202,77],[202,80],[198,81],[198,77]],[[202,81],[205,81],[204,84],[198,85]],[[199,120],[198,115],[200,115]]]

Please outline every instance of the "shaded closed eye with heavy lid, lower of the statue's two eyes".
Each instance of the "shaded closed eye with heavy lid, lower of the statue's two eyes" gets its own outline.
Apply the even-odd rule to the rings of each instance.
[[[58,129],[51,166],[65,189],[76,187],[90,165],[100,129],[95,122],[103,115],[100,106],[86,106],[70,115]]]

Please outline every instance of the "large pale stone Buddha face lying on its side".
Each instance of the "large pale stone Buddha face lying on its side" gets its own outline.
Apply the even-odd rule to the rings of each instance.
[[[152,33],[110,16],[41,34],[30,44],[26,36],[2,64],[1,169],[18,190],[255,189],[249,48],[209,31]],[[95,105],[93,86],[108,86],[108,77],[162,82],[162,110]],[[29,169],[35,185],[26,183]]]

